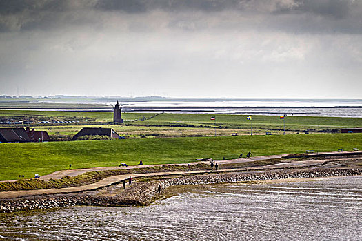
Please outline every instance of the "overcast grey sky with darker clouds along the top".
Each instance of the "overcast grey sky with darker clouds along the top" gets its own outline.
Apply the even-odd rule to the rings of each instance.
[[[361,0],[1,0],[0,94],[362,98]]]

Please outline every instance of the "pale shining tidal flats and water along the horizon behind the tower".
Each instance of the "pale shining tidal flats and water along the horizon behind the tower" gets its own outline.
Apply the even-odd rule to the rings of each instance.
[[[243,114],[279,116],[327,116],[327,117],[362,117],[362,100],[165,100],[165,101],[120,101],[125,112],[168,112],[199,114]],[[112,112],[114,101],[34,101],[44,104],[79,105],[77,109],[24,109],[48,111],[99,111]],[[92,105],[92,107],[90,107]],[[93,105],[101,105],[97,108]],[[105,106],[109,106],[105,109]],[[137,108],[135,108],[137,107]],[[73,109],[72,109],[73,108]],[[79,109],[80,108],[80,109]],[[143,109],[144,108],[144,109]],[[6,109],[6,108],[3,108]],[[12,109],[8,107],[8,109]]]

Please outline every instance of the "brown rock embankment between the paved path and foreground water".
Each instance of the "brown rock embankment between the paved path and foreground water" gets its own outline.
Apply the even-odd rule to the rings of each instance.
[[[263,171],[250,173],[205,174],[181,176],[148,182],[134,182],[125,190],[120,185],[107,187],[99,191],[86,193],[58,194],[49,196],[33,196],[11,200],[0,200],[0,213],[27,211],[34,209],[50,209],[72,207],[77,205],[116,206],[116,205],[149,205],[161,196],[161,192],[174,185],[207,185],[227,182],[245,182],[255,180],[274,180],[288,178],[319,178],[330,176],[362,175],[362,169],[313,169],[289,171]]]

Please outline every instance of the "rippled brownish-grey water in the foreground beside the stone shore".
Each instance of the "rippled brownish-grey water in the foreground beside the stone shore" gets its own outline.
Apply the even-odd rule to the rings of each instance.
[[[3,240],[361,240],[362,176],[208,185],[148,207],[0,216]]]

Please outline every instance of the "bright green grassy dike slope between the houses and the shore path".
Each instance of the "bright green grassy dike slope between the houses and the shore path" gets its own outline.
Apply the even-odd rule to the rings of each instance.
[[[307,149],[336,151],[362,149],[362,134],[310,134],[285,136],[219,136],[195,138],[145,138],[53,143],[3,143],[0,145],[0,180],[72,168],[115,166],[119,163],[186,163],[195,158],[221,160],[300,153]]]

